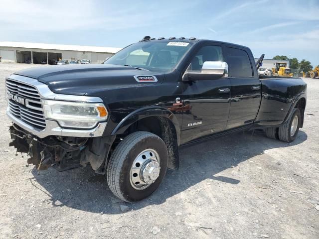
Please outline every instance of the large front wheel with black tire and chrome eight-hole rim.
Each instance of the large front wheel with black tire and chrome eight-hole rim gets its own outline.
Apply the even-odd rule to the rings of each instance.
[[[138,131],[125,137],[108,162],[111,191],[126,202],[142,200],[160,186],[167,169],[167,148],[156,134]]]

